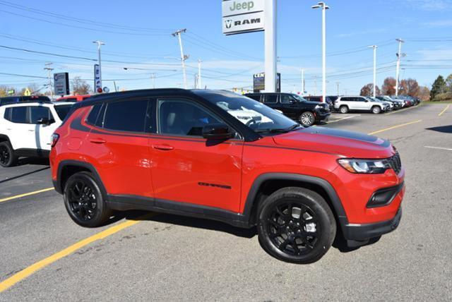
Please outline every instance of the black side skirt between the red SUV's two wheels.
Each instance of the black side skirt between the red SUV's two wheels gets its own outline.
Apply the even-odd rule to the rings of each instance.
[[[249,229],[249,219],[246,216],[222,210],[216,207],[206,207],[194,205],[192,203],[182,203],[171,200],[156,198],[145,198],[136,195],[107,195],[107,204],[112,210],[145,210],[167,214],[198,217],[203,219],[216,220],[231,224],[234,227]]]

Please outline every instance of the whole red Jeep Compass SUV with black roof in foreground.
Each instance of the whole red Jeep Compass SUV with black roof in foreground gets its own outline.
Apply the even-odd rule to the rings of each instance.
[[[359,244],[396,229],[405,171],[387,140],[304,128],[222,90],[90,97],[52,137],[55,189],[71,219],[151,210],[256,226],[275,258],[319,260],[340,231]]]

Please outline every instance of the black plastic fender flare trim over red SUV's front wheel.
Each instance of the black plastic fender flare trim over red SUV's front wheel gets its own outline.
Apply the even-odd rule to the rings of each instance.
[[[248,217],[251,221],[251,212],[253,210],[254,201],[256,200],[256,195],[258,194],[259,188],[261,188],[262,183],[270,180],[287,180],[287,181],[302,181],[304,183],[311,183],[316,186],[320,186],[328,195],[333,206],[333,212],[338,217],[340,227],[343,229],[348,224],[347,215],[345,214],[344,207],[340,202],[340,198],[336,193],[331,183],[325,179],[321,179],[315,176],[303,175],[303,174],[290,174],[290,173],[266,173],[259,175],[251,186],[248,196],[246,198],[246,203],[244,207],[243,215]]]

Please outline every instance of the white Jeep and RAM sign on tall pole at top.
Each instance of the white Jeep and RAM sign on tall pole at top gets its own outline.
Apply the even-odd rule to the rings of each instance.
[[[264,29],[264,0],[223,0],[223,34],[235,35]]]

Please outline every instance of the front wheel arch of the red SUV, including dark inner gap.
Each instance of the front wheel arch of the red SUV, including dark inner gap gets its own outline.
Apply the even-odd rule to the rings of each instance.
[[[289,186],[308,188],[319,193],[331,207],[338,226],[343,229],[348,224],[343,205],[331,183],[315,176],[286,173],[261,174],[256,178],[249,190],[244,207],[244,216],[248,217],[249,224],[256,224],[258,207],[268,195],[280,188]]]

